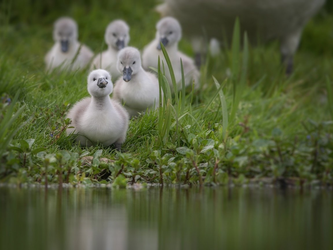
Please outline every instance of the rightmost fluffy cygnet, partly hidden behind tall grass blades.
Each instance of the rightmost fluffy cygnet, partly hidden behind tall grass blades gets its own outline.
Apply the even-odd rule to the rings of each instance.
[[[177,89],[179,90],[181,88],[180,58],[182,60],[184,68],[185,86],[192,85],[192,82],[194,80],[194,87],[198,88],[198,78],[200,74],[195,67],[194,61],[185,54],[178,51],[178,42],[181,38],[181,27],[179,22],[173,17],[165,17],[157,23],[156,29],[157,32],[155,40],[153,40],[144,48],[142,54],[143,67],[145,69],[148,69],[149,66],[157,68],[159,56],[165,61],[160,45],[160,42],[162,42],[171,61],[171,65],[177,82]],[[169,82],[171,90],[173,90],[171,76],[168,69],[166,69],[166,79]]]

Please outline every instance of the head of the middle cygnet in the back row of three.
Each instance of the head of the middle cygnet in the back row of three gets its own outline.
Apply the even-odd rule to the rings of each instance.
[[[107,45],[120,50],[130,41],[130,27],[123,20],[115,20],[106,28],[104,39]]]

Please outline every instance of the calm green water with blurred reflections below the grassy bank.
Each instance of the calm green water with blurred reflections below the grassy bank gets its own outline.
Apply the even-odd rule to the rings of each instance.
[[[332,190],[0,188],[0,249],[333,249]]]

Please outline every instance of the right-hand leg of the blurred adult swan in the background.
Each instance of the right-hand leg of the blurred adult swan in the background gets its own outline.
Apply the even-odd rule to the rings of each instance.
[[[302,30],[289,33],[281,39],[281,62],[286,67],[286,75],[290,75],[294,66],[294,54],[301,39]]]

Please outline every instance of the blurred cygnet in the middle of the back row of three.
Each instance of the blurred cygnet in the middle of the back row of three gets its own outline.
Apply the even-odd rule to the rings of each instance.
[[[91,68],[108,70],[112,79],[117,79],[121,75],[117,69],[117,55],[119,50],[128,45],[130,41],[129,31],[129,26],[123,20],[111,22],[106,28],[104,35],[108,49],[94,58]]]

